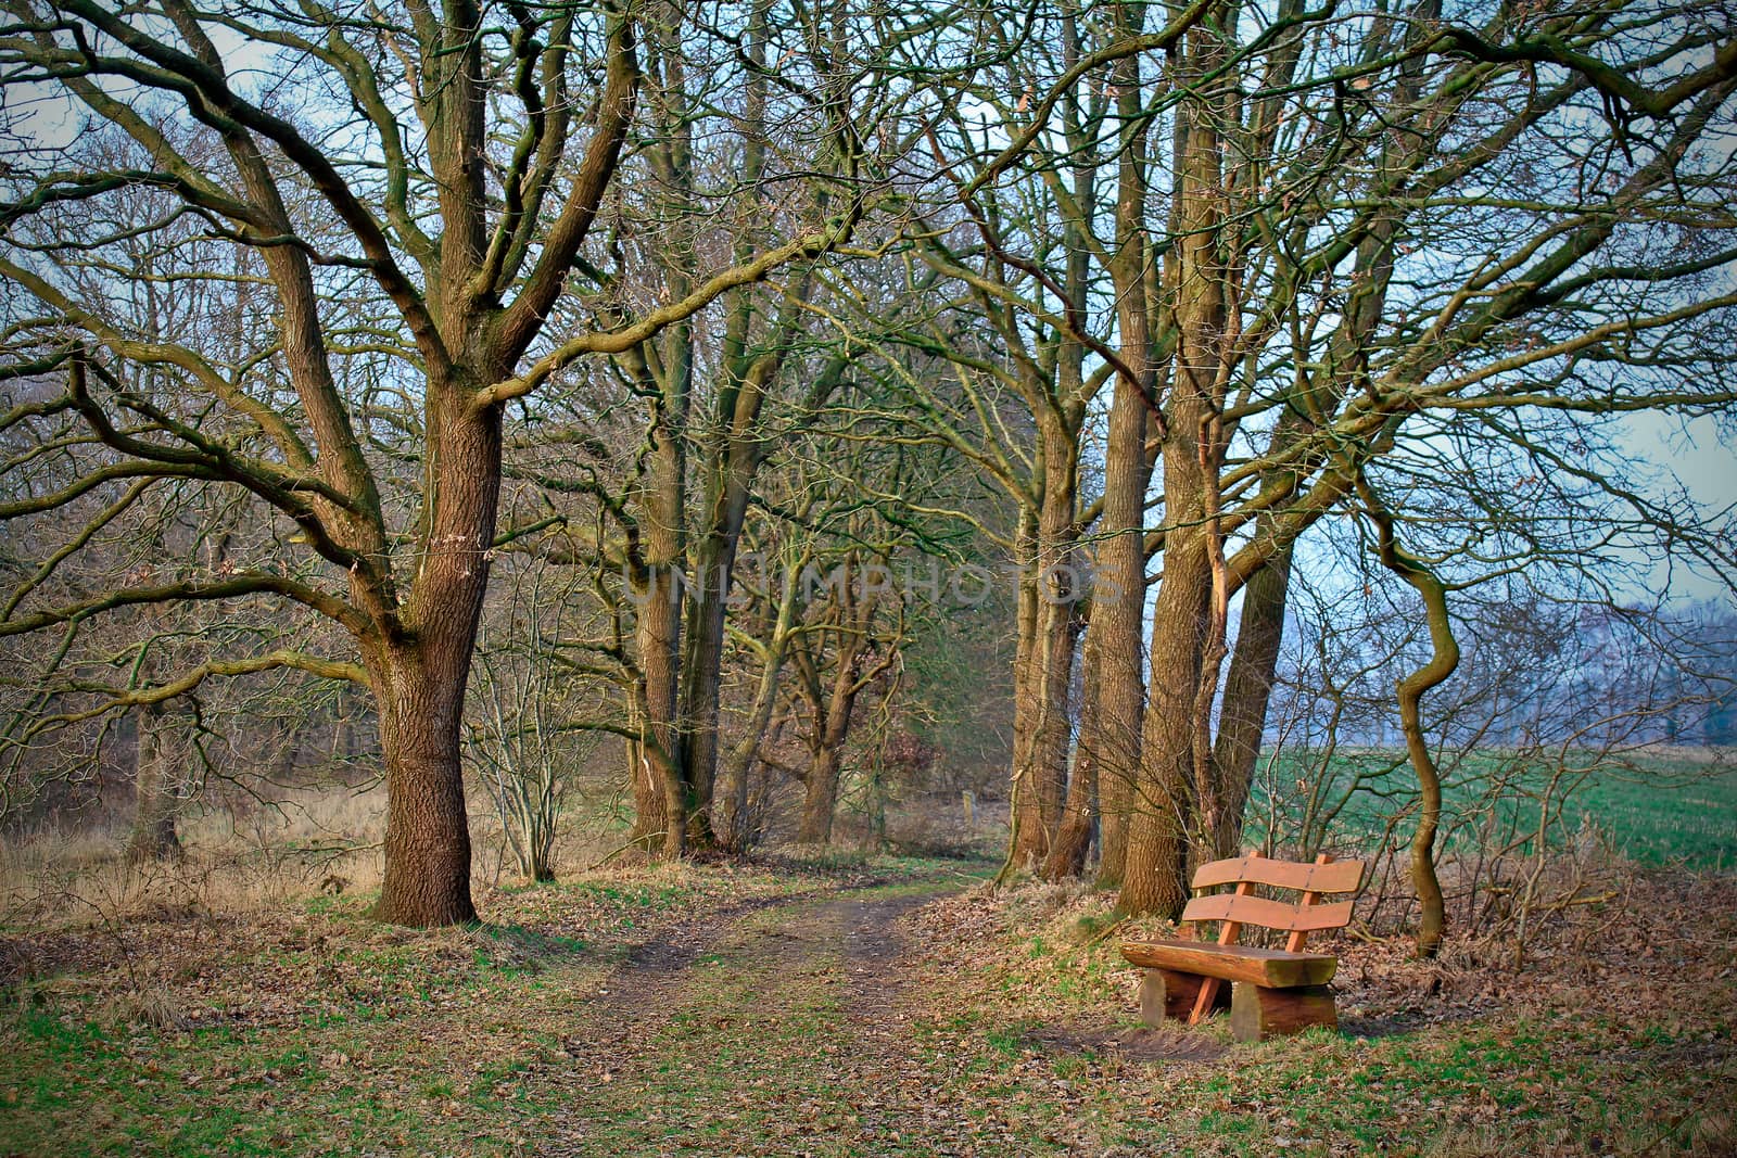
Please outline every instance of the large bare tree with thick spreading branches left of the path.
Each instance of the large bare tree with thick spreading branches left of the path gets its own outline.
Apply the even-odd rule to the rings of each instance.
[[[7,14],[5,83],[42,99],[7,106],[5,373],[57,375],[64,391],[21,401],[3,425],[101,451],[56,491],[9,472],[5,514],[196,479],[245,491],[294,536],[224,575],[111,583],[54,606],[24,599],[5,630],[250,595],[339,623],[354,658],[266,646],[111,703],[281,667],[367,686],[387,781],[377,913],[469,920],[464,689],[490,557],[525,533],[497,526],[509,405],[839,243],[862,196],[811,227],[792,220],[789,240],[747,260],[697,260],[669,299],[620,300],[608,325],[563,332],[549,321],[575,293],[613,283],[610,253],[585,253],[618,194],[644,85],[634,10],[412,2],[354,21],[320,5],[162,0],[120,12],[17,0]],[[108,153],[69,139],[57,111],[94,125]],[[130,142],[127,163],[111,163],[115,139]],[[196,319],[151,337],[115,276],[82,278],[90,255],[134,236],[94,210],[139,188],[174,201],[146,227],[168,231],[170,257],[179,222],[233,253],[217,276],[257,288],[278,319],[269,340],[236,352]],[[177,276],[212,276],[186,257],[179,266]],[[148,366],[175,405],[130,387],[123,366]]]

